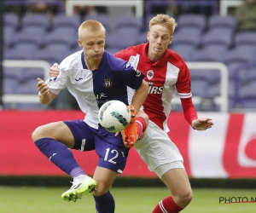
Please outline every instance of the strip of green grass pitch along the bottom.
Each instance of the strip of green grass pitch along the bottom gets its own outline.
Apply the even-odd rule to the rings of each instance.
[[[91,194],[82,199],[65,202],[61,199],[64,187],[0,187],[0,210],[4,213],[94,213]],[[255,190],[194,189],[194,199],[183,213],[255,213],[256,203],[219,204],[219,197],[255,198]],[[169,195],[164,187],[113,187],[116,213],[151,213],[160,199]]]

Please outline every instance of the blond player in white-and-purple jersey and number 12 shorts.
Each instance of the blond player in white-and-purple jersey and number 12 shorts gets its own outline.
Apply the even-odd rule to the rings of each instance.
[[[110,100],[128,105],[127,87],[130,87],[135,89],[131,106],[138,112],[148,95],[144,75],[125,60],[104,51],[105,33],[100,22],[84,21],[79,26],[79,46],[83,50],[62,60],[57,77],[46,82],[38,78],[38,96],[42,104],[49,104],[67,87],[86,114],[84,120],[45,124],[32,133],[32,141],[38,149],[73,177],[73,186],[62,193],[61,198],[76,201],[84,193],[93,192],[98,213],[114,212],[114,199],[109,189],[117,174],[125,169],[129,153],[121,134],[110,133],[98,124],[99,108]],[[93,179],[84,173],[69,148],[96,150],[99,162]]]

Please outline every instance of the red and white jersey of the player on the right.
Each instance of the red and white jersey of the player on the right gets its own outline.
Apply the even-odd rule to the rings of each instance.
[[[123,49],[115,56],[129,61],[135,69],[143,72],[144,79],[149,86],[143,111],[148,114],[154,124],[160,126],[162,130],[168,131],[167,119],[172,109],[171,101],[176,95],[176,90],[181,99],[191,99],[189,69],[185,61],[171,49],[167,49],[164,57],[156,62],[148,60],[147,52],[148,43],[142,43]],[[193,104],[191,106],[195,111]],[[195,118],[195,115],[196,112],[192,113],[190,117]],[[187,120],[190,122],[194,118]]]

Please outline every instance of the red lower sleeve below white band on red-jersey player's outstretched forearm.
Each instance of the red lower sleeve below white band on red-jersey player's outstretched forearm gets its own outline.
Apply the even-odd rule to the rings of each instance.
[[[192,98],[181,98],[181,103],[184,118],[188,121],[189,125],[191,125],[192,121],[198,118]]]

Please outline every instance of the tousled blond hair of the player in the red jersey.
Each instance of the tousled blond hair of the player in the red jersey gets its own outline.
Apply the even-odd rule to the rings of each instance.
[[[151,26],[161,25],[166,26],[166,28],[171,32],[171,36],[177,26],[176,20],[167,14],[157,14],[149,21],[149,30]]]

